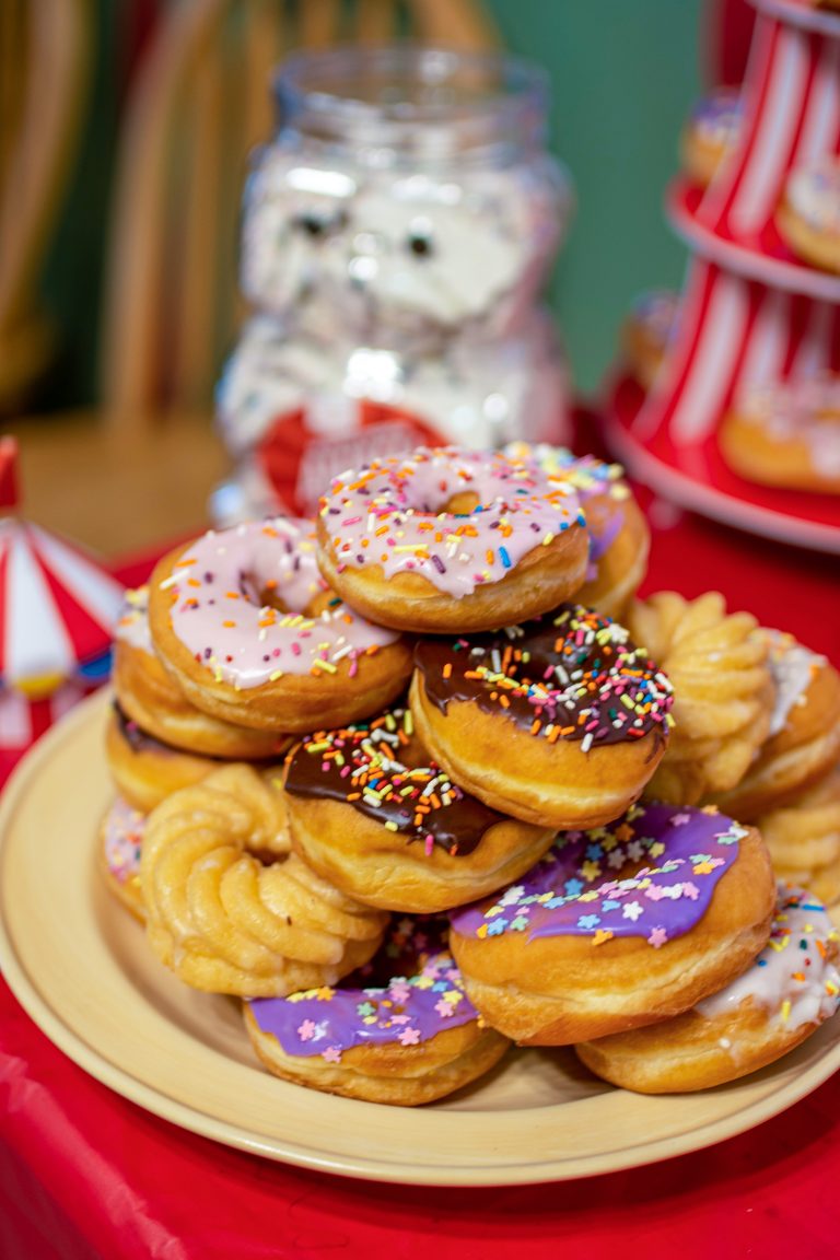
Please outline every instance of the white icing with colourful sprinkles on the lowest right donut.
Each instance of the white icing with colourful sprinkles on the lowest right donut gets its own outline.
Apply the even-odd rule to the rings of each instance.
[[[694,1009],[714,1019],[752,1000],[790,1029],[822,1023],[840,1005],[836,941],[822,902],[780,883],[768,944],[743,975]]]

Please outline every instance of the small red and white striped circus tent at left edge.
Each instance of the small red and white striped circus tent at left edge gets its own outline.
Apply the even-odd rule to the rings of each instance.
[[[15,507],[15,446],[0,442],[0,513]],[[0,515],[0,750],[25,748],[102,678],[122,586],[89,556]]]

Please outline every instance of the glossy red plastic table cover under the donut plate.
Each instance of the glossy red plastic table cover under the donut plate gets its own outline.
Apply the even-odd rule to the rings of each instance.
[[[640,498],[644,593],[720,590],[730,610],[840,663],[836,561]],[[141,581],[149,559],[118,576]],[[0,1255],[9,1260],[374,1260],[635,1254],[811,1257],[837,1246],[840,1074],[749,1133],[664,1163],[482,1189],[329,1177],[217,1145],[88,1077],[0,985]]]

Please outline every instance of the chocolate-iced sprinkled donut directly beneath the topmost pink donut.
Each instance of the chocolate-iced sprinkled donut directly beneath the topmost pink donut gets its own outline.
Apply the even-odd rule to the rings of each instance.
[[[645,788],[671,687],[617,621],[574,604],[499,634],[422,639],[411,708],[423,745],[491,809],[597,827]]]

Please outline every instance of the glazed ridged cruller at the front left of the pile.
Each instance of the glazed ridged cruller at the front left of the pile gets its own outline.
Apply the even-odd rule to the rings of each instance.
[[[335,984],[377,951],[387,915],[288,850],[275,776],[233,762],[157,805],[140,886],[149,942],[185,984],[277,997]]]

